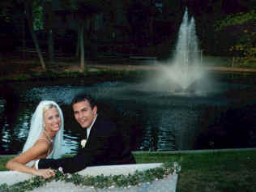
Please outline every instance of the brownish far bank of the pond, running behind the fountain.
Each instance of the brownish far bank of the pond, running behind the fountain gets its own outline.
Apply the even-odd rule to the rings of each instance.
[[[36,65],[35,65],[36,64]],[[8,65],[8,66],[6,66]],[[30,79],[33,74],[42,75],[45,72],[56,73],[57,75],[62,75],[63,73],[81,73],[83,70],[80,68],[79,62],[55,62],[54,65],[46,65],[47,70],[43,71],[41,65],[38,61],[12,61],[6,63],[1,63],[0,66],[3,67],[1,73],[0,83],[5,80],[26,80]],[[86,72],[97,72],[106,70],[124,70],[124,71],[134,71],[134,70],[161,70],[163,67],[168,65],[157,62],[157,61],[147,61],[147,62],[129,62],[129,61],[86,61],[85,62],[85,73]],[[11,68],[10,68],[11,67]],[[208,72],[216,73],[232,73],[232,74],[245,74],[254,75],[256,74],[256,69],[254,68],[242,68],[242,67],[227,67],[227,66],[202,66],[203,70]],[[1,68],[0,68],[1,69]]]

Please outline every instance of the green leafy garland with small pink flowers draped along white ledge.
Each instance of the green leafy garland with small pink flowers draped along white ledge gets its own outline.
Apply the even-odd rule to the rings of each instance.
[[[78,173],[63,173],[62,169],[56,170],[55,177],[44,179],[43,177],[32,177],[26,181],[15,183],[12,186],[2,184],[0,191],[8,192],[25,192],[33,190],[35,188],[45,186],[50,181],[66,181],[72,182],[76,186],[86,187],[91,186],[92,188],[100,189],[111,189],[113,187],[130,187],[130,186],[141,186],[142,183],[163,179],[168,177],[169,174],[177,174],[181,171],[181,166],[174,163],[164,163],[162,166],[155,169],[147,169],[146,171],[135,171],[133,175],[110,175],[104,176],[103,174],[96,177],[93,176],[82,176]]]

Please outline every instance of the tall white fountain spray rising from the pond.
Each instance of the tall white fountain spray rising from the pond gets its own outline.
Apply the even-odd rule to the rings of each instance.
[[[202,60],[198,49],[194,17],[189,19],[187,9],[182,19],[173,55],[173,59],[169,60],[169,65],[161,70],[161,82],[168,82],[170,91],[196,92],[198,79],[203,78]]]

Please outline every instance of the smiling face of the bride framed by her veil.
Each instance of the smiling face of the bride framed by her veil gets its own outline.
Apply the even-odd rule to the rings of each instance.
[[[45,130],[58,132],[61,129],[62,119],[56,107],[47,109],[44,113]]]

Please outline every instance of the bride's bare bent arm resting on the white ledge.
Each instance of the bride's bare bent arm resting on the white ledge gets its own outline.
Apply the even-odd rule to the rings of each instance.
[[[6,163],[6,169],[11,169],[19,171],[21,173],[31,173],[37,176],[42,176],[44,178],[49,178],[55,175],[54,171],[51,169],[39,169],[36,170],[33,167],[28,167],[26,164],[31,160],[37,160],[39,158],[45,158],[48,154],[49,143],[44,140],[39,140],[36,144],[28,149],[28,151],[23,152],[19,156],[9,160]]]

